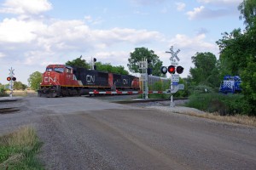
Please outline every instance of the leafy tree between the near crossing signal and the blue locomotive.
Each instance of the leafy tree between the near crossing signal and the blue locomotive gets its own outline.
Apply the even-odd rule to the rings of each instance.
[[[190,68],[191,81],[195,85],[205,84],[212,87],[218,87],[218,61],[212,53],[196,53],[191,57],[195,68]]]

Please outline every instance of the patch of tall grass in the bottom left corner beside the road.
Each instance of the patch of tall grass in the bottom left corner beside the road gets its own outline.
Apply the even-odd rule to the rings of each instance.
[[[44,169],[36,158],[41,146],[32,127],[21,127],[15,133],[0,137],[0,169]]]

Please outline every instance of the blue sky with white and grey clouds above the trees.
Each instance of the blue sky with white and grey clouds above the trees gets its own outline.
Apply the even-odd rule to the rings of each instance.
[[[171,46],[184,68],[191,57],[211,52],[222,33],[244,29],[237,9],[242,0],[0,0],[0,83],[9,69],[28,84],[35,71],[50,64],[91,58],[127,64],[135,48],[148,48],[171,64]],[[167,73],[168,74],[168,73]],[[137,75],[138,76],[138,75]],[[170,75],[167,75],[170,77]]]

